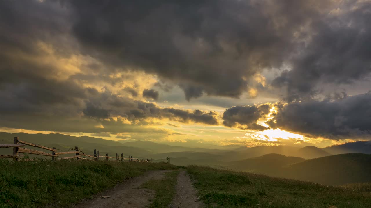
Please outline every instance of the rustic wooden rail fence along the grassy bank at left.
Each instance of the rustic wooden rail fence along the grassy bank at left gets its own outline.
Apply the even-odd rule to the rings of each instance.
[[[44,150],[49,150],[52,151],[51,153],[39,151],[39,150],[32,150],[32,149],[27,149],[23,148],[25,145],[31,146],[31,147],[37,147],[37,148],[42,148]],[[129,155],[129,158],[125,158],[124,154],[121,153],[121,157],[119,157],[119,154],[116,153],[116,156],[114,157],[109,157],[112,155],[108,155],[106,153],[105,156],[99,155],[99,150],[94,150],[93,155],[85,154],[83,151],[79,150],[78,147],[75,147],[75,149],[71,149],[72,151],[65,151],[65,152],[59,152],[55,147],[50,148],[50,147],[44,147],[42,145],[38,144],[32,144],[30,142],[22,141],[19,140],[18,137],[14,137],[14,142],[13,144],[0,144],[0,148],[13,148],[13,154],[12,155],[0,155],[0,158],[13,158],[14,161],[18,160],[18,157],[25,156],[25,155],[19,155],[18,153],[27,153],[27,154],[34,154],[34,155],[42,155],[42,156],[48,156],[52,157],[53,161],[57,160],[69,160],[69,159],[74,159],[76,160],[92,160],[92,161],[98,161],[99,158],[105,158],[105,161],[112,161],[109,160],[111,158],[116,158],[116,160],[113,161],[135,161],[135,162],[152,162],[151,160],[144,160],[144,159],[138,159],[138,158],[133,158],[133,155]],[[61,157],[61,155],[64,154],[75,154],[70,157]],[[85,157],[90,157],[93,159],[85,158]],[[60,158],[61,157],[61,158]]]

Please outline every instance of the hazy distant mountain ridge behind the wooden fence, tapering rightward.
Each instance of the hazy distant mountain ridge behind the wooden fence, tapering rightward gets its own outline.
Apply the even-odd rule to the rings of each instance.
[[[4,144],[12,143],[13,137],[19,137],[20,140],[45,145],[47,147],[56,147],[61,150],[67,150],[68,148],[74,148],[77,146],[84,152],[92,152],[94,149],[96,149],[99,150],[101,154],[116,154],[122,152],[124,155],[135,155],[141,157],[145,156],[149,158],[151,158],[154,154],[165,152],[224,152],[228,151],[230,148],[241,147],[238,145],[231,145],[228,147],[220,146],[221,149],[206,149],[159,144],[152,141],[137,140],[122,142],[105,140],[97,137],[76,137],[65,134],[27,134],[23,132],[11,134],[7,132],[0,132],[0,139],[10,139],[9,141],[3,141],[2,143]],[[223,150],[223,148],[226,148],[227,150]],[[0,153],[11,154],[11,152],[12,150],[10,148],[0,149]],[[167,156],[165,156],[165,158],[166,157]]]

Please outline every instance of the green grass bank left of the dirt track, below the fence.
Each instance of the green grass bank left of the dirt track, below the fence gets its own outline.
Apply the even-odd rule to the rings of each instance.
[[[66,207],[165,163],[0,160],[0,208]]]

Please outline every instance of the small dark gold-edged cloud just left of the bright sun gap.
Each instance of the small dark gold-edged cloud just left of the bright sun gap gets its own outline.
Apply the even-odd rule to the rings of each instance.
[[[270,104],[229,108],[223,113],[223,125],[244,130],[263,131],[269,129],[257,124],[257,121],[266,118],[270,108]]]

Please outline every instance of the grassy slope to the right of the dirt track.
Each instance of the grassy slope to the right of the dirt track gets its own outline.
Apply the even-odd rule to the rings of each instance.
[[[208,208],[371,207],[370,192],[194,165],[187,171]]]

